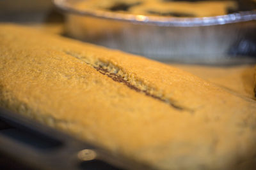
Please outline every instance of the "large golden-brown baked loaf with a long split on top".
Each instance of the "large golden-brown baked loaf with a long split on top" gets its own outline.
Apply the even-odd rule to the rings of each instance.
[[[255,166],[256,102],[175,67],[0,25],[0,106],[153,169]]]

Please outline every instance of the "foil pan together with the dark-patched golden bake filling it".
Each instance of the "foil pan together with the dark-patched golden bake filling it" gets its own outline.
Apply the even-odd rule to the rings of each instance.
[[[66,34],[164,62],[256,60],[256,3],[247,1],[59,1]]]

